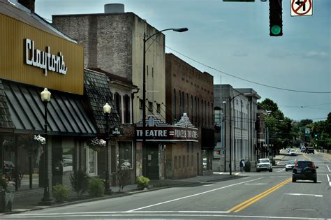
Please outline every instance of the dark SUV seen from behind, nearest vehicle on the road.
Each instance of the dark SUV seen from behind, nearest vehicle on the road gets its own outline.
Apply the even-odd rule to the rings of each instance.
[[[292,172],[292,182],[296,182],[297,179],[317,182],[317,168],[318,166],[315,166],[313,161],[296,161]]]

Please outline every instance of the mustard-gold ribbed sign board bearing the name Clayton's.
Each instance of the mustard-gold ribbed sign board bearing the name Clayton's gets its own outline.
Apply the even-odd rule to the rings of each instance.
[[[3,14],[0,27],[1,79],[51,92],[84,93],[82,45]]]

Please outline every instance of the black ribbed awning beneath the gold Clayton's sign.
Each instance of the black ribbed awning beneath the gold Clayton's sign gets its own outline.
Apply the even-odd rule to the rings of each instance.
[[[45,107],[41,101],[42,88],[3,80],[14,133],[43,133]],[[94,136],[96,128],[84,108],[83,96],[50,90],[47,105],[50,135]]]

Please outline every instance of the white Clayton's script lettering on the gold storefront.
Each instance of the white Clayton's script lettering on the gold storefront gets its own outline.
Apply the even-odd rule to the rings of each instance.
[[[47,75],[47,71],[61,74],[66,74],[67,71],[61,52],[54,55],[50,53],[50,47],[46,47],[46,51],[34,49],[34,41],[30,39],[24,39],[24,61],[25,64],[43,68],[45,75]]]

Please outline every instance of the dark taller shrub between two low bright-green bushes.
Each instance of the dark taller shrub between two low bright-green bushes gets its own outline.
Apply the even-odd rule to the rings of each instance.
[[[71,186],[73,186],[73,191],[80,197],[89,187],[89,175],[82,170],[78,170],[73,175],[70,175],[70,182]]]

